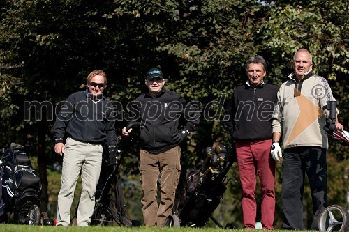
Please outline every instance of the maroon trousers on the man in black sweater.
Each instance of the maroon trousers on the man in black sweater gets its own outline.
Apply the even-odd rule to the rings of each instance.
[[[273,229],[275,212],[276,162],[270,156],[272,140],[236,141],[239,178],[242,184],[242,212],[245,229],[255,229],[257,206],[255,202],[256,173],[262,188],[262,229]]]

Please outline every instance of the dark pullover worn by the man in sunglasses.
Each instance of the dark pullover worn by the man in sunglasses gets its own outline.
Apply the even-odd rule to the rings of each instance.
[[[91,144],[116,145],[115,118],[112,103],[103,95],[97,100],[89,90],[70,95],[54,123],[54,141],[63,142],[66,136]]]

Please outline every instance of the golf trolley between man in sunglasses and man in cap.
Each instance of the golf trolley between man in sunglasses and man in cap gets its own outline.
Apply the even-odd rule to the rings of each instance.
[[[138,126],[138,122],[128,123],[126,131]],[[92,226],[107,226],[110,223],[117,223],[119,226],[140,226],[140,222],[128,218],[126,206],[124,206],[124,196],[121,187],[120,164],[126,155],[126,149],[133,141],[132,135],[129,137],[118,137],[117,155],[119,160],[114,165],[112,171],[108,168],[107,155],[103,155],[101,175],[96,188],[96,204],[91,215]],[[114,187],[114,196],[112,188]],[[77,206],[78,207],[78,206]],[[75,215],[70,225],[76,225],[77,207]]]

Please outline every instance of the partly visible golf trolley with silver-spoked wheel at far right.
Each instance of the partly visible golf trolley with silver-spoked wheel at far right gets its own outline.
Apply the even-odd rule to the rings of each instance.
[[[329,125],[324,127],[328,137],[339,141],[343,146],[349,145],[349,133],[346,130],[336,129],[336,102],[327,102],[329,109]],[[347,232],[349,231],[348,210],[342,206],[332,205],[323,210],[319,217],[319,230],[321,232]]]

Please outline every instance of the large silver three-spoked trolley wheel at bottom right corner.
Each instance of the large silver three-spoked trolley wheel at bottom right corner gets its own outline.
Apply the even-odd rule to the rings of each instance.
[[[349,219],[346,208],[332,205],[321,212],[319,217],[319,230],[321,232],[346,232],[348,229]]]

